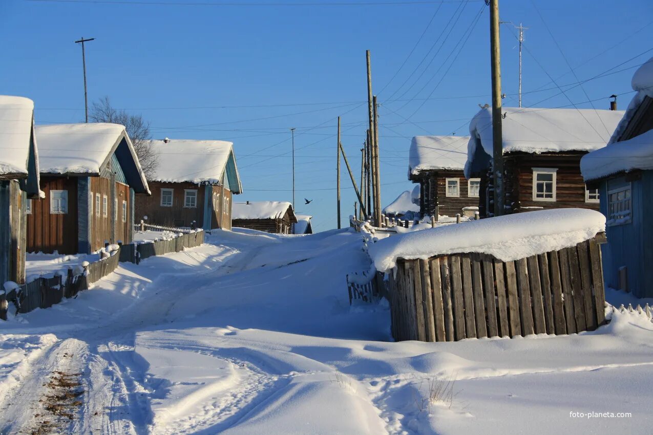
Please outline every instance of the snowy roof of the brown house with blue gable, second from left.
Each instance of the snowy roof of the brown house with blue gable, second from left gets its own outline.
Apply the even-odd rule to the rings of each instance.
[[[41,173],[99,175],[116,153],[127,182],[137,193],[150,193],[125,126],[111,123],[37,125]]]

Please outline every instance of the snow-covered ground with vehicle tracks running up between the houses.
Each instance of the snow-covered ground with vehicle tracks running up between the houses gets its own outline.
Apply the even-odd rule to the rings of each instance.
[[[651,432],[645,315],[578,335],[395,343],[387,305],[349,307],[345,275],[370,266],[360,233],[207,242],[2,323],[0,433]],[[58,373],[84,391],[71,419],[43,409]],[[631,414],[570,414],[588,412]]]

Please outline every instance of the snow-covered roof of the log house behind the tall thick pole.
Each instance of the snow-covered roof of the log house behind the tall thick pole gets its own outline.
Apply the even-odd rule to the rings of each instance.
[[[503,108],[503,153],[594,151],[605,147],[624,115],[620,110]],[[492,109],[470,121],[465,175],[485,170],[492,156]]]

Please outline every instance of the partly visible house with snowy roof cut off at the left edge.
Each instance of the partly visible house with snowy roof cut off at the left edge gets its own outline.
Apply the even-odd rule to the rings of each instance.
[[[34,102],[0,95],[0,286],[25,282],[29,198],[39,198]]]

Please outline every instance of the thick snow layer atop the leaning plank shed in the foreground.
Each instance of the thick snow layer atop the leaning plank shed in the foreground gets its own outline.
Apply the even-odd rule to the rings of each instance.
[[[470,220],[382,239],[368,245],[377,271],[389,271],[397,258],[478,252],[503,262],[571,247],[605,231],[605,216],[588,209],[530,211]]]

